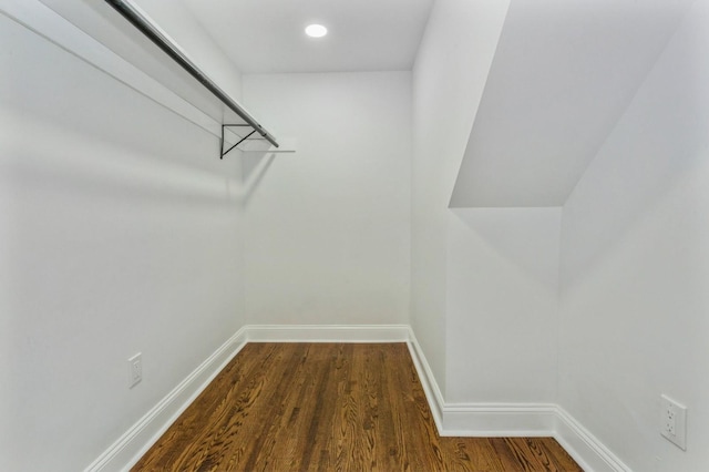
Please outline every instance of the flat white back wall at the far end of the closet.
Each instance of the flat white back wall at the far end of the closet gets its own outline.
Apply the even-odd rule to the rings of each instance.
[[[245,156],[250,322],[407,324],[410,72],[248,75],[295,154]]]

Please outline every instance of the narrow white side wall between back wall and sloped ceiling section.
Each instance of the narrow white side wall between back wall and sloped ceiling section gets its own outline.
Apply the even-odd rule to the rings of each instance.
[[[413,68],[411,325],[442,389],[448,204],[507,6],[434,2]]]

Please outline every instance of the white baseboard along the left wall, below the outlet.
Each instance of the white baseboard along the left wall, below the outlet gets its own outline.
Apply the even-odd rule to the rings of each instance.
[[[246,342],[246,329],[242,328],[93,461],[86,468],[86,472],[129,470],[242,350]]]

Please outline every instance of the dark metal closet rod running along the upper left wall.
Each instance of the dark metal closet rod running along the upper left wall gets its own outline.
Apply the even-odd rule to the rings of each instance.
[[[205,89],[219,99],[225,105],[233,110],[242,120],[248,123],[254,130],[258,132],[264,138],[266,138],[274,146],[278,147],[278,142],[264,126],[261,126],[246,110],[244,110],[238,103],[236,103],[229,95],[226,94],[219,86],[212,81],[194,62],[192,62],[169,39],[167,39],[153,23],[147,20],[138,10],[130,2],[124,0],[105,0],[111,7],[113,7],[119,13],[129,20],[135,28],[141,30],[151,41],[153,41],[160,49],[162,49],[167,55],[169,55],[175,62],[177,62],[185,71],[187,71],[193,78],[197,79]]]

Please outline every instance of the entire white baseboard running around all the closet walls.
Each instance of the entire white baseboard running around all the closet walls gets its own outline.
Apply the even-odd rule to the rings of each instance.
[[[446,403],[409,326],[245,326],[99,456],[86,471],[127,470],[246,342],[407,342],[442,437],[554,437],[587,472],[629,472],[554,403]]]

